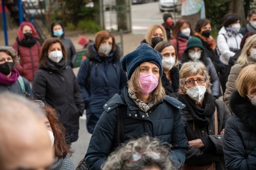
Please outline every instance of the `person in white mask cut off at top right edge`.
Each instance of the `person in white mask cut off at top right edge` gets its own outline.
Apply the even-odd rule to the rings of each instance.
[[[240,33],[244,35],[245,33],[251,32],[256,33],[256,9],[252,9],[247,14],[247,24],[246,27],[240,30]]]

